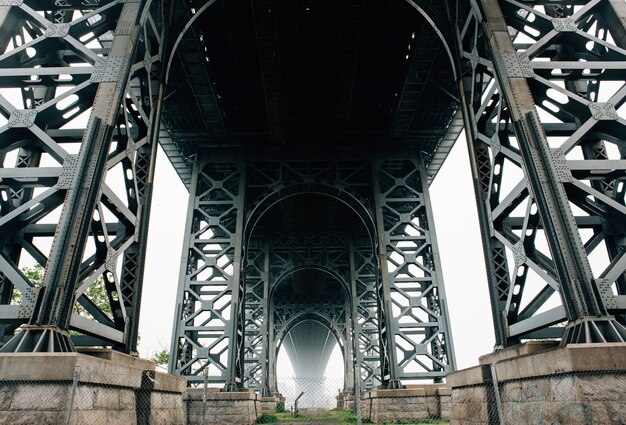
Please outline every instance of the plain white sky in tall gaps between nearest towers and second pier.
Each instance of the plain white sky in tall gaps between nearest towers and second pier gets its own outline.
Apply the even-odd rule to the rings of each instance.
[[[477,364],[478,357],[491,352],[494,344],[470,176],[467,146],[462,137],[431,186],[459,368]],[[153,196],[140,322],[140,353],[144,357],[169,349],[188,201],[187,191],[162,151],[157,159]],[[330,364],[338,363],[337,355],[331,357]],[[290,375],[291,368],[279,369],[278,375]]]

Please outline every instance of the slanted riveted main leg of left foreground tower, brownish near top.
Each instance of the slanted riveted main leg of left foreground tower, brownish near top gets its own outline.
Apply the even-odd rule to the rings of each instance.
[[[9,341],[2,348],[3,351],[74,350],[66,332],[75,301],[74,290],[81,271],[92,215],[100,197],[99,189],[106,171],[114,126],[125,94],[141,10],[140,2],[123,6],[107,57],[111,63],[115,61],[117,73],[115,78],[104,78],[98,85],[90,121],[75,164],[75,178],[69,183],[59,225],[56,227],[44,286],[39,291],[29,326]],[[69,24],[48,24],[46,35],[58,37],[69,31]],[[32,112],[36,119],[38,111]],[[17,118],[17,114],[14,115]],[[32,126],[32,122],[28,124]]]

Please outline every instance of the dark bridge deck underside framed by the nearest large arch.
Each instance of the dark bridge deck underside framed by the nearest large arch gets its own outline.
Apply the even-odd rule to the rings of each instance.
[[[218,1],[177,51],[168,155],[432,156],[461,130],[455,92],[443,44],[405,1]]]

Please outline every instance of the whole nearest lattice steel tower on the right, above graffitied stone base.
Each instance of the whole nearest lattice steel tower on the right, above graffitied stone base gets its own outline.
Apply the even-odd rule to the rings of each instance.
[[[626,337],[624,8],[503,0],[459,11],[497,346]]]

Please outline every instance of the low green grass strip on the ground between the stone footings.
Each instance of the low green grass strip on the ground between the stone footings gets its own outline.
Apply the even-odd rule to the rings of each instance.
[[[257,423],[278,423],[278,424],[334,424],[334,425],[354,425],[357,423],[356,416],[352,412],[344,410],[317,410],[317,411],[301,411],[300,415],[294,417],[291,412],[280,412],[272,414],[264,414],[259,417]],[[363,420],[363,423],[368,423]],[[448,424],[446,420],[440,419],[423,419],[419,421],[398,420],[394,422],[386,422],[385,425],[391,424]]]

